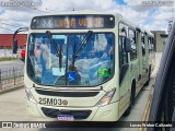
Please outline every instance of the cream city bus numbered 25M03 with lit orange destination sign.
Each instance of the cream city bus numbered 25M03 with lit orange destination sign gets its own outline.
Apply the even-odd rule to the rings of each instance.
[[[153,38],[117,13],[33,17],[24,72],[28,111],[67,121],[129,115],[154,68]]]

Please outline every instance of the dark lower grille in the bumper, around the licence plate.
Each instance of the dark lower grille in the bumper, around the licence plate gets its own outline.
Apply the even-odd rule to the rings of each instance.
[[[42,107],[42,111],[50,118],[57,118],[58,115],[70,115],[74,119],[86,119],[92,112],[92,110],[59,110],[45,107]]]

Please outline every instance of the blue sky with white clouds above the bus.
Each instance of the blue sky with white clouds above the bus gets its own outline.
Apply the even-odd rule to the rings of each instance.
[[[117,12],[148,31],[167,31],[168,22],[175,19],[175,0],[0,0],[0,34],[28,26],[35,15],[73,9]]]

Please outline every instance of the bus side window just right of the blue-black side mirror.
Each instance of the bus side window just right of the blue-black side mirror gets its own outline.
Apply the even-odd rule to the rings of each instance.
[[[130,52],[130,60],[137,59],[137,44],[136,44],[136,31],[129,29],[129,39],[131,40],[131,52]]]

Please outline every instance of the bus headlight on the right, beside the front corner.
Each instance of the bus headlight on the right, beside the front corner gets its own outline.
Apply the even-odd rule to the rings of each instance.
[[[105,96],[103,96],[103,98],[97,103],[96,106],[106,106],[106,105],[108,105],[110,103],[115,92],[116,92],[116,88],[113,88],[109,92],[107,92],[105,94]]]

